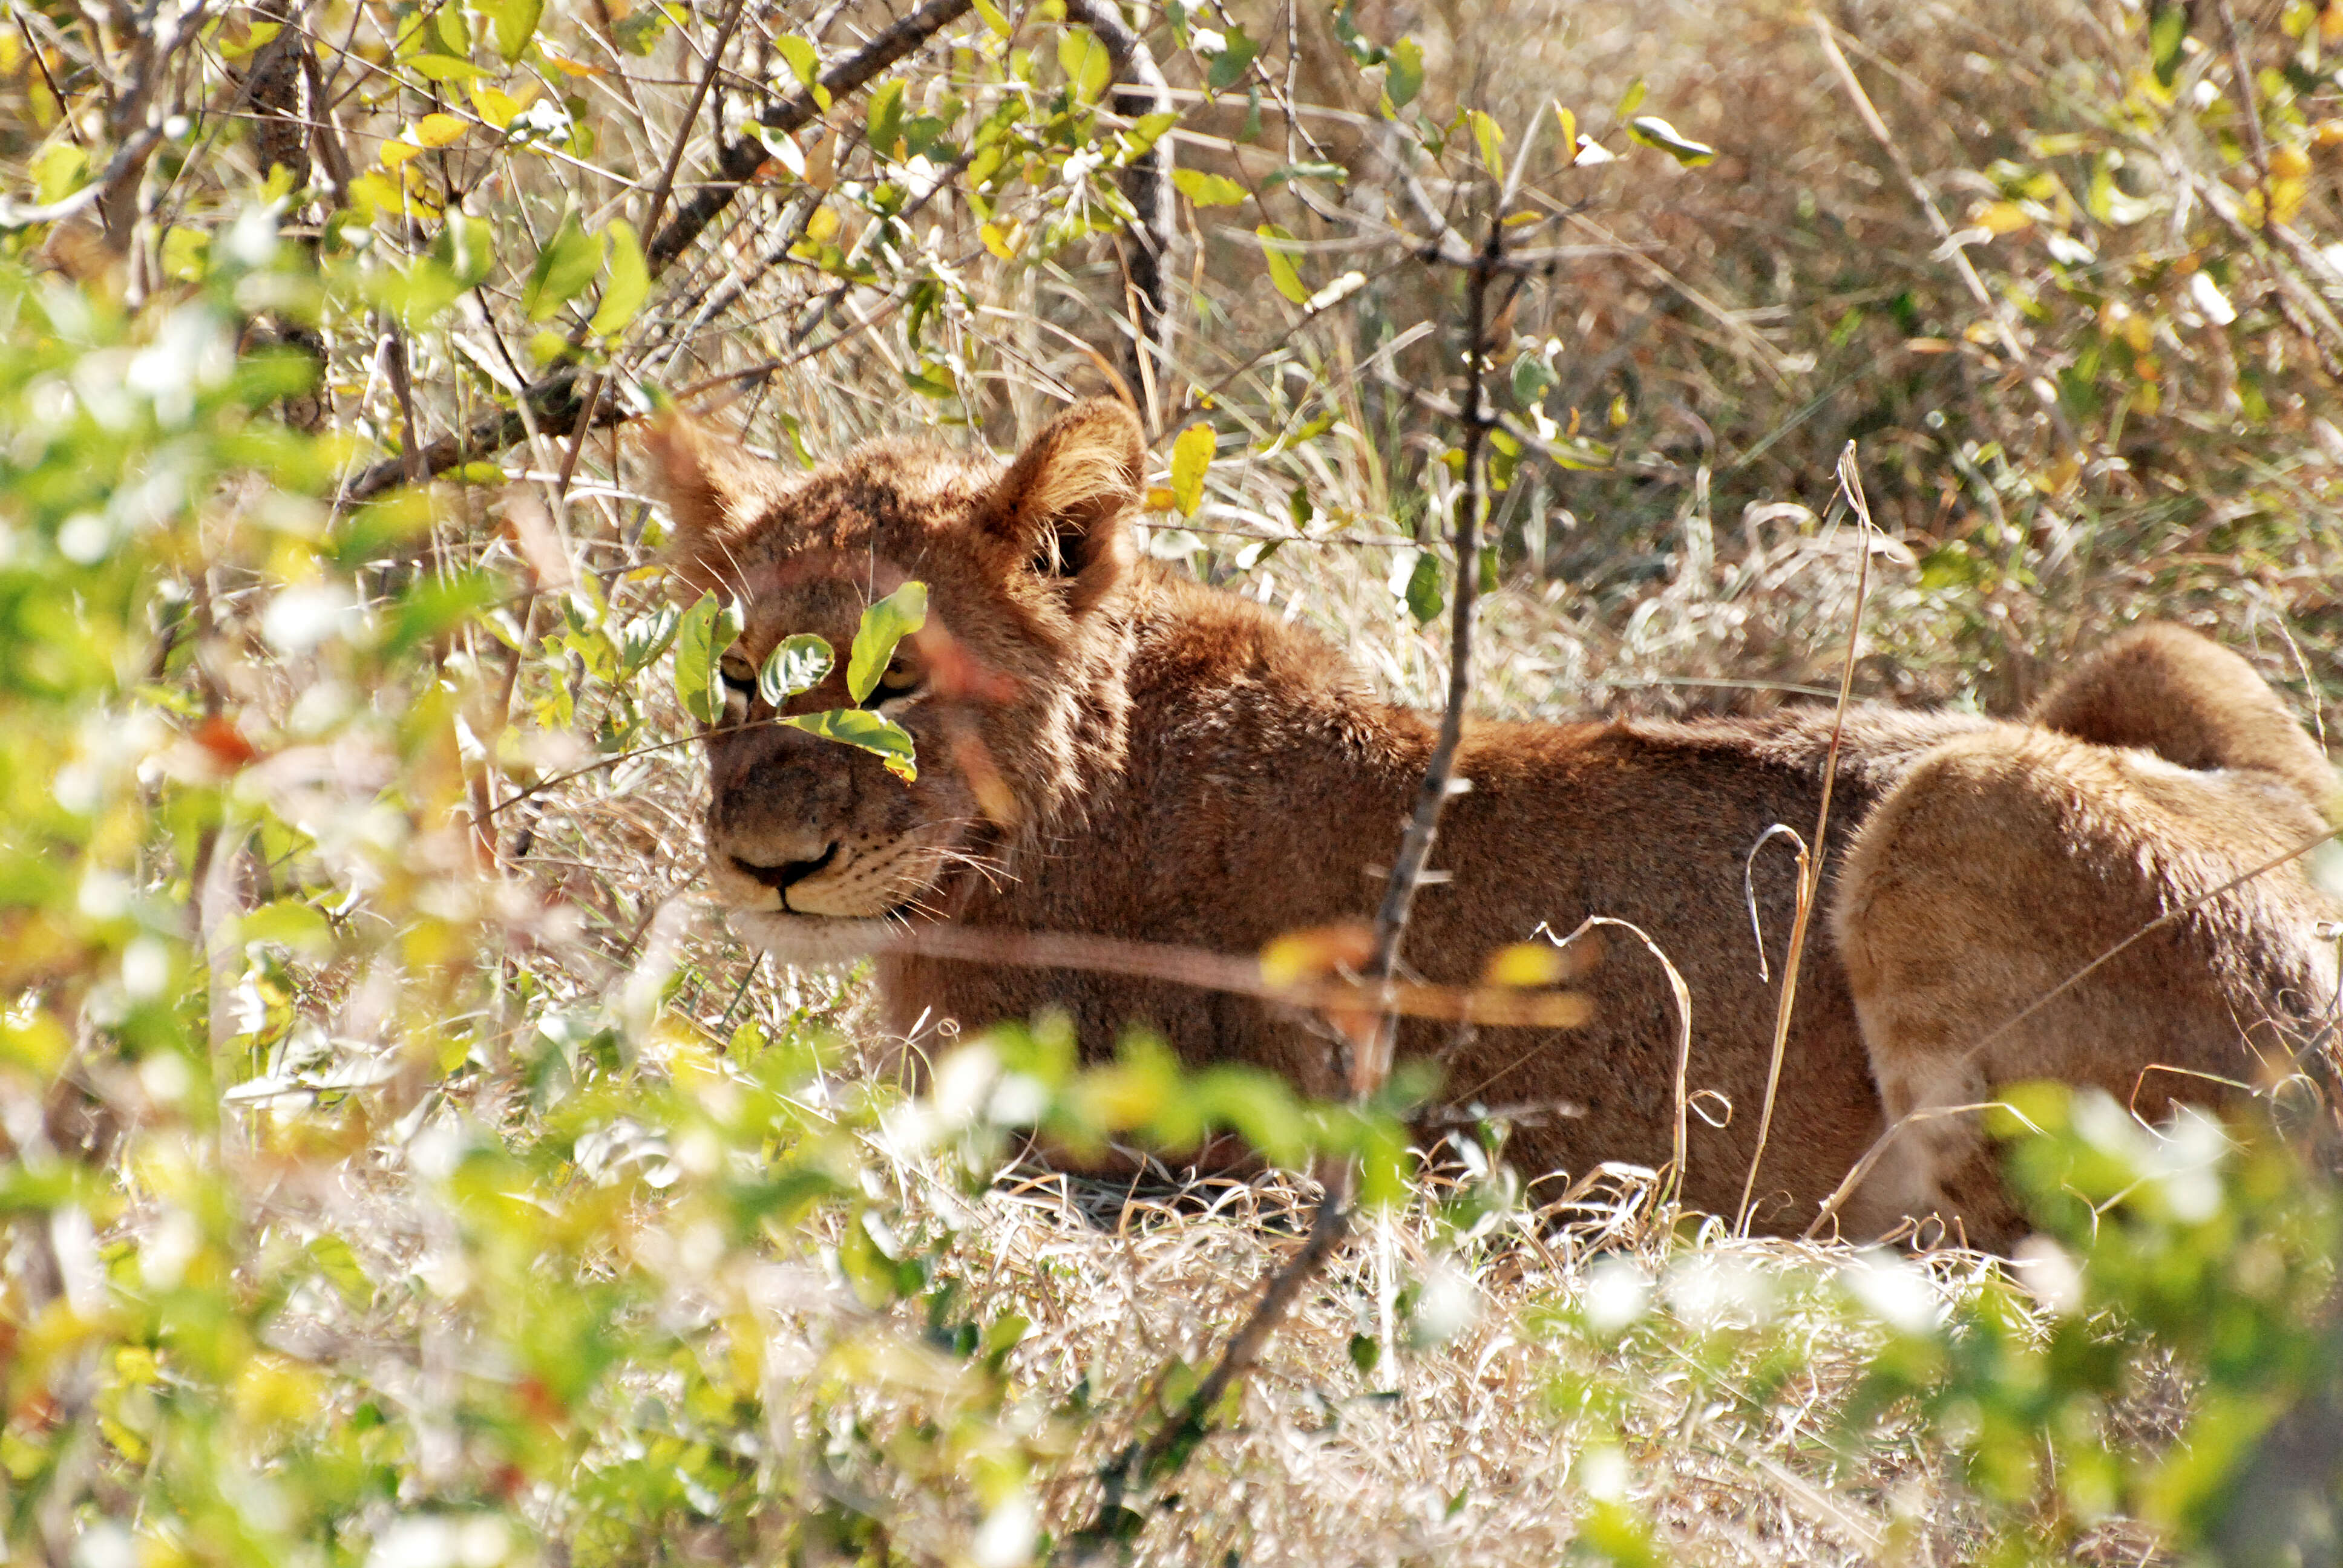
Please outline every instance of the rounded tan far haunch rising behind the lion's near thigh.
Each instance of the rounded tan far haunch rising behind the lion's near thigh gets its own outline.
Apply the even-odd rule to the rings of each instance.
[[[2261,769],[2331,809],[2336,773],[2238,654],[2179,626],[2139,626],[2090,654],[2029,715],[2099,745],[2142,745],[2186,769]]]

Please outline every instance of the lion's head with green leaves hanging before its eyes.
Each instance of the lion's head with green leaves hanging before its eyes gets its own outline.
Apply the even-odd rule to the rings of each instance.
[[[1120,403],[1080,403],[1007,466],[881,441],[787,473],[689,424],[654,436],[684,598],[733,595],[724,717],[708,727],[708,877],[733,919],[787,959],[869,947],[879,921],[949,916],[1005,874],[1019,834],[1080,806],[1120,757],[1129,656],[1120,600],[1143,448]],[[869,708],[918,752],[904,783],[879,757],[773,724],[766,654],[797,633],[836,668],[783,715],[853,705],[846,649],[862,609],[928,586]]]

